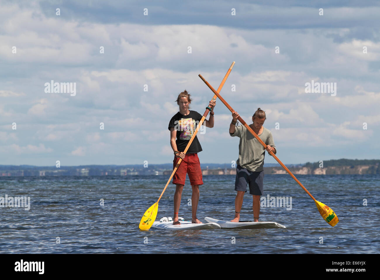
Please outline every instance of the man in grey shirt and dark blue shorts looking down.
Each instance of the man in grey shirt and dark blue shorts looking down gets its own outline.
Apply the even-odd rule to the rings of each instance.
[[[235,190],[237,191],[235,198],[235,218],[231,222],[239,222],[240,210],[243,205],[244,192],[247,192],[247,184],[249,185],[249,193],[253,196],[253,219],[259,221],[260,214],[260,196],[263,195],[263,179],[264,179],[264,155],[265,150],[268,154],[272,151],[276,154],[276,146],[274,145],[271,131],[264,128],[263,124],[266,120],[265,112],[260,108],[257,109],[252,116],[252,125],[250,128],[260,137],[267,145],[266,148],[245,128],[244,125],[235,126],[239,114],[232,113],[232,122],[230,124],[230,135],[238,136],[239,142],[239,159],[236,161],[236,179]]]

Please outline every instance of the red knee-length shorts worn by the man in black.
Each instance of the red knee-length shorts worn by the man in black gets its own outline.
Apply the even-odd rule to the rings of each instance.
[[[174,157],[173,170],[179,161],[179,157]],[[190,185],[203,185],[201,164],[197,154],[187,154],[182,160],[176,173],[173,176],[173,184],[185,184],[186,173],[189,176]]]

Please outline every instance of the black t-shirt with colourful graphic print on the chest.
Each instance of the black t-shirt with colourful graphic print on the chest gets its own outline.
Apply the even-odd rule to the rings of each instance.
[[[173,127],[174,130],[177,130],[176,144],[179,152],[183,152],[185,150],[201,118],[201,114],[191,110],[188,115],[182,115],[178,112],[173,116],[173,118],[171,118],[168,129],[170,130],[170,128]],[[199,143],[197,136],[195,136],[186,154],[196,154],[201,150],[201,144]]]

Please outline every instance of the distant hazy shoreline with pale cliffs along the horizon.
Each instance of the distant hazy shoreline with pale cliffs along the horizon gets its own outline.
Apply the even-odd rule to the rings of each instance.
[[[326,160],[299,165],[286,165],[293,174],[380,174],[380,160]],[[236,164],[201,164],[203,175],[235,175]],[[127,176],[170,175],[173,164],[160,165],[83,165],[83,166],[31,166],[0,165],[0,177],[27,176]],[[287,174],[277,163],[264,164],[265,174]]]

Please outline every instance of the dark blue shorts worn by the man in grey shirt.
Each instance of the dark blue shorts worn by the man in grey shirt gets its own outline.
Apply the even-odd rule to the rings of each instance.
[[[249,193],[252,195],[264,194],[264,170],[260,172],[249,171],[240,165],[236,167],[235,190],[247,192],[247,184],[249,185]]]

